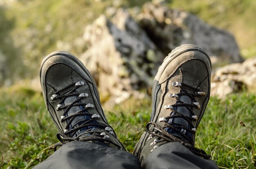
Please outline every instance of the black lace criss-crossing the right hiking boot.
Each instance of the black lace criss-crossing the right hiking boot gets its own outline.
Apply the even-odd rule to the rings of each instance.
[[[159,138],[155,139],[154,142],[162,142],[162,141],[167,141],[167,142],[180,142],[182,145],[184,145],[185,147],[187,147],[191,152],[193,152],[194,154],[201,156],[203,158],[209,159],[211,158],[210,155],[207,155],[203,149],[197,149],[193,146],[193,143],[191,142],[191,139],[186,136],[183,132],[181,132],[181,128],[185,129],[187,131],[190,131],[191,133],[195,134],[195,130],[196,128],[193,126],[192,121],[197,121],[198,117],[194,114],[193,112],[193,108],[200,108],[199,103],[195,100],[195,97],[200,97],[200,96],[204,96],[205,92],[201,92],[198,88],[195,88],[193,86],[187,85],[185,83],[180,83],[180,82],[173,82],[172,86],[175,87],[180,87],[180,93],[178,94],[168,94],[169,97],[175,97],[177,99],[176,103],[173,105],[165,105],[164,108],[165,109],[169,109],[171,112],[174,112],[174,115],[170,115],[167,117],[160,117],[159,121],[161,123],[164,123],[164,126],[161,127],[159,124],[154,123],[154,122],[149,122],[146,125],[146,130],[147,132],[150,134],[149,138],[153,138],[153,136],[157,136]],[[193,93],[188,92],[187,90],[191,90],[193,91]],[[180,96],[189,96],[193,103],[188,104],[188,103],[184,103],[183,101],[181,101],[180,99],[178,99]],[[187,110],[189,110],[189,112],[192,114],[191,117],[185,116],[180,112],[177,112],[174,108],[175,107],[179,107],[179,106],[184,106],[186,107]],[[180,126],[180,125],[171,125],[168,123],[169,119],[173,119],[173,118],[183,118],[185,119],[190,126],[192,126],[190,128],[185,127],[185,126]],[[153,125],[153,127],[150,127],[151,125]],[[173,129],[173,131],[177,132],[178,134],[171,134],[169,132],[167,132],[165,130],[166,127],[170,127],[171,129]],[[152,130],[150,131],[150,128],[152,128]],[[155,143],[153,142],[152,145],[154,145]],[[157,146],[154,147],[154,149],[157,148]],[[154,150],[153,149],[153,150]],[[151,151],[153,151],[151,150]]]

